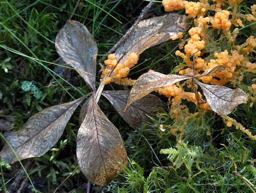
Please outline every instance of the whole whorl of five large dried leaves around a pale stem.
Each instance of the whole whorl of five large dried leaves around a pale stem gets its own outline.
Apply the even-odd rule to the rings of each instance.
[[[178,37],[178,32],[187,29],[186,17],[177,13],[141,21],[116,50],[116,58],[118,61],[124,61],[130,53],[140,54],[151,46]],[[101,83],[96,90],[96,41],[83,24],[69,20],[57,34],[55,46],[63,61],[74,68],[93,91],[93,95],[82,106],[79,116],[81,126],[77,134],[76,149],[78,165],[88,180],[97,185],[107,185],[126,166],[127,153],[117,128],[97,104],[104,84]],[[109,75],[110,73],[106,78]],[[165,106],[158,97],[148,95],[126,108],[127,111],[123,114],[129,96],[127,91],[105,91],[102,95],[124,120],[135,128],[140,127],[143,120],[147,120],[146,115]],[[9,135],[6,139],[19,159],[41,156],[54,146],[69,118],[84,98],[38,112],[28,120],[21,131]],[[154,103],[149,102],[152,99]],[[10,163],[18,160],[7,144],[0,156],[2,161]]]

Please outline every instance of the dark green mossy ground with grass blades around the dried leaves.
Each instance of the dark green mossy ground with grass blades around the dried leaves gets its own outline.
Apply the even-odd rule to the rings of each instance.
[[[124,35],[148,2],[90,2],[82,1],[72,19],[83,23],[92,33],[99,48],[98,62],[103,62],[101,57]],[[2,118],[13,122],[9,129],[19,130],[36,112],[90,92],[74,70],[55,65],[59,58],[54,46],[55,37],[72,15],[76,3],[73,0],[0,1],[0,110]],[[252,4],[256,2],[243,1],[240,10],[248,10]],[[147,17],[162,14],[165,12],[161,3],[155,3]],[[248,36],[254,36],[255,32],[245,29],[241,34],[237,41],[244,42]],[[219,36],[217,33],[211,34],[214,40]],[[129,77],[136,79],[149,69],[170,73],[182,62],[174,54],[179,43],[178,40],[170,40],[146,50],[140,55],[139,64],[149,60],[131,71]],[[222,44],[221,51],[229,46],[220,42],[217,47],[212,44],[211,48],[220,49]],[[252,62],[255,62],[253,56]],[[56,72],[57,68],[62,78],[54,75],[53,71]],[[100,70],[100,65],[97,68]],[[246,89],[252,84],[253,78],[255,74],[247,72],[242,84],[244,88],[241,89],[248,92]],[[96,81],[99,79],[100,74]],[[126,89],[116,84],[107,85],[105,89],[110,90],[112,87],[116,90]],[[168,102],[168,98],[162,99]],[[182,104],[186,104],[190,112],[198,111],[198,107],[191,102],[182,100]],[[184,119],[174,120],[169,112],[160,110],[152,118],[152,123],[144,123],[140,129],[134,130],[124,123],[103,97],[100,107],[119,129],[126,144],[129,164],[124,173],[107,187],[92,185],[92,192],[252,192],[242,177],[234,175],[233,171],[239,172],[256,185],[256,141],[234,126],[227,127],[214,112],[199,111],[184,124]],[[55,145],[58,148],[56,151],[30,159],[33,162],[27,171],[38,191],[53,192],[62,182],[57,192],[86,191],[86,178],[79,169],[75,170],[78,116],[79,108]],[[256,134],[255,104],[251,107],[249,103],[239,105],[229,116],[253,135]],[[161,130],[161,127],[165,130]],[[173,132],[175,129],[183,132]],[[6,129],[2,131],[4,133]],[[25,165],[28,161],[22,162]],[[11,171],[4,162],[0,166],[1,189],[7,192],[21,167],[19,163],[14,164]],[[72,175],[64,182],[71,172]],[[32,191],[29,182],[24,186],[25,190]]]

